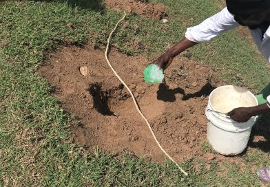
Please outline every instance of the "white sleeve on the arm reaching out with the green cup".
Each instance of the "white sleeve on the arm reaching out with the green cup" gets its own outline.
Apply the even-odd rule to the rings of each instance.
[[[208,19],[205,19],[199,25],[187,28],[185,37],[189,41],[196,43],[209,42],[215,36],[236,28],[239,25],[233,15],[227,10],[227,7]]]

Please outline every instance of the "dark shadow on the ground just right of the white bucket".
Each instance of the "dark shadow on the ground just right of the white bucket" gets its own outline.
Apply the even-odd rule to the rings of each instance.
[[[254,141],[254,137],[262,136],[264,140]],[[260,148],[265,153],[270,152],[270,113],[264,114],[254,124],[251,131],[249,146],[253,148]]]

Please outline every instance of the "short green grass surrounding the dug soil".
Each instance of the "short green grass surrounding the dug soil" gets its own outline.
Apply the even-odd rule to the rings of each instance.
[[[129,14],[112,39],[114,47],[127,54],[145,52],[153,59],[168,43],[179,41],[187,26],[218,11],[210,0],[155,2],[167,6],[166,29],[159,21]],[[251,167],[270,165],[269,154],[260,150],[243,156],[247,170],[224,163],[227,175],[218,175],[222,163],[190,159],[181,163],[190,173],[185,177],[171,162],[147,163],[125,152],[114,157],[98,149],[88,153],[68,140],[76,120],[50,96],[52,87],[35,70],[63,43],[90,41],[104,47],[121,17],[105,10],[101,1],[0,3],[0,186],[260,186]],[[143,47],[134,48],[136,43]],[[270,72],[254,50],[231,31],[189,52],[196,61],[216,67],[227,83],[259,90],[269,83]],[[202,146],[209,150],[207,144]]]

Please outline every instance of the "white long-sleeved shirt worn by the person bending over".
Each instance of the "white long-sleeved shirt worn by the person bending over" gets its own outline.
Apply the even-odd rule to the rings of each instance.
[[[205,19],[205,21],[199,25],[192,28],[187,28],[185,37],[189,41],[196,43],[209,42],[215,36],[218,36],[238,26],[239,23],[234,20],[233,14],[231,14],[227,8],[224,8],[214,16]],[[262,56],[264,56],[264,58],[266,58],[270,63],[270,27],[264,33],[263,37],[259,28],[250,30],[250,32],[253,40],[258,46],[258,49],[262,53]],[[270,96],[267,97],[267,101],[270,103]]]

